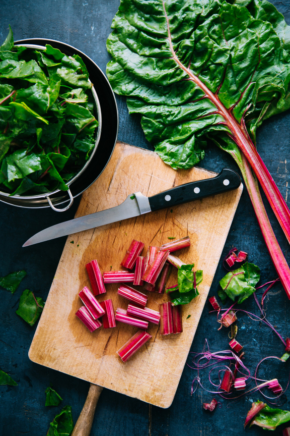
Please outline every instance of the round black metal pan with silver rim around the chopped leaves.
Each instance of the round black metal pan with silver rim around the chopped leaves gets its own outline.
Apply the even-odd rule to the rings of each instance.
[[[45,44],[50,44],[58,48],[67,56],[77,54],[86,64],[90,80],[94,84],[92,92],[99,123],[96,144],[86,165],[73,179],[66,183],[66,185],[69,186],[68,191],[60,191],[57,189],[42,195],[31,196],[10,196],[9,193],[0,191],[0,201],[19,207],[42,208],[50,206],[53,210],[64,211],[73,204],[75,197],[82,194],[82,192],[94,183],[106,167],[117,140],[118,111],[114,93],[107,78],[99,67],[77,48],[51,39],[26,39],[16,41],[15,43],[15,45],[23,45],[37,49],[45,49]],[[55,207],[67,201],[69,201],[69,203],[65,207]]]

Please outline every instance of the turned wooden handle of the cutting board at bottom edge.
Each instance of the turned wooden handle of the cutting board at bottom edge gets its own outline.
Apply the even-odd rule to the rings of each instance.
[[[83,410],[71,436],[90,436],[96,406],[103,388],[90,383],[90,389]]]

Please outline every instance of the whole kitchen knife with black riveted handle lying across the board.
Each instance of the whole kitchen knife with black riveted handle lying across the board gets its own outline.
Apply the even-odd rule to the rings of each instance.
[[[177,206],[178,204],[198,200],[210,195],[222,194],[223,192],[237,189],[240,184],[240,176],[235,171],[224,169],[218,176],[212,179],[185,183],[184,185],[175,186],[167,191],[160,192],[152,197],[146,197],[141,194],[141,192],[135,192],[134,194],[128,195],[126,200],[119,206],[48,227],[28,239],[28,241],[23,244],[23,247],[104,226],[105,224],[115,223],[116,221],[126,220],[127,218],[142,215],[143,213]]]

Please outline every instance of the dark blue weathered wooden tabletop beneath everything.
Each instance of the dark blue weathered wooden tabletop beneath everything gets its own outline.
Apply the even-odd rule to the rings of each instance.
[[[15,39],[47,37],[66,42],[87,53],[105,71],[109,60],[105,45],[106,38],[118,4],[118,0],[40,0],[39,2],[2,0],[0,2],[0,39],[1,41],[5,39],[8,24],[11,24]],[[283,3],[274,2],[274,4],[290,23],[289,0]],[[128,115],[123,98],[117,97],[117,103],[120,117],[119,140],[151,148],[144,138],[139,118]],[[290,189],[289,127],[289,112],[273,117],[259,129],[257,140],[258,150],[286,200],[288,189]],[[223,167],[237,170],[232,159],[212,144],[209,144],[201,166],[216,172]],[[290,261],[286,239],[266,201],[265,204],[281,248],[287,260]],[[0,203],[0,276],[22,268],[27,271],[27,277],[14,295],[6,290],[0,290],[2,321],[0,368],[8,372],[18,383],[17,387],[0,387],[1,436],[46,434],[49,422],[61,409],[61,406],[44,406],[44,391],[50,383],[63,398],[62,406],[66,404],[72,406],[75,421],[86,400],[89,390],[88,383],[30,362],[27,353],[35,327],[31,328],[15,313],[20,295],[26,288],[31,289],[45,300],[65,238],[28,248],[22,248],[23,242],[41,229],[71,219],[77,206],[78,201],[75,201],[69,211],[56,213],[49,209],[29,210]],[[232,246],[247,251],[249,260],[261,267],[261,283],[276,278],[246,191],[242,194],[224,254]],[[220,262],[210,295],[216,293],[219,280],[224,275],[225,270]],[[260,296],[261,292],[258,295]],[[284,337],[290,335],[289,304],[279,284],[272,288],[269,292],[268,319],[277,326],[277,330]],[[244,303],[243,308],[258,313],[253,298]],[[281,342],[265,325],[250,320],[246,315],[240,315],[238,325],[237,339],[245,346],[246,362],[252,370],[263,357],[283,354]],[[218,332],[217,328],[215,315],[209,315],[208,307],[205,307],[191,351],[201,351],[205,339],[214,351],[227,349],[228,331],[224,329]],[[277,377],[285,386],[289,368],[289,362],[282,365],[271,361],[263,366],[260,376],[265,379]],[[166,368],[164,370],[166,371]],[[138,400],[104,390],[97,406],[92,436],[116,434],[120,436],[243,435],[246,413],[252,401],[262,400],[262,396],[255,393],[236,402],[220,399],[222,408],[210,414],[202,409],[202,402],[210,401],[212,394],[198,389],[190,397],[190,387],[194,376],[194,371],[186,366],[177,394],[169,409],[151,407]],[[203,374],[203,381],[208,388],[206,371]],[[252,385],[254,386],[254,383]],[[286,393],[286,396],[290,398],[290,391],[289,394]],[[290,401],[286,396],[283,397],[283,408],[290,410]],[[260,435],[265,431],[252,427],[246,430],[246,433]],[[281,434],[281,429],[278,428],[271,434]]]

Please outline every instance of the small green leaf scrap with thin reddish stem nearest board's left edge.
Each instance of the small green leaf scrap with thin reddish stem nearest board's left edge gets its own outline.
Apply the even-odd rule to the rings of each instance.
[[[35,297],[33,292],[25,289],[20,297],[19,307],[16,313],[21,316],[29,325],[33,326],[39,318],[44,307],[41,297]]]

